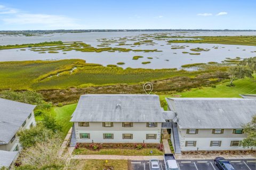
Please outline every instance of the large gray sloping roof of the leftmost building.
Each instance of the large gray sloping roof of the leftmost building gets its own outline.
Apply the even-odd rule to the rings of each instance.
[[[0,98],[0,145],[9,143],[35,107]]]

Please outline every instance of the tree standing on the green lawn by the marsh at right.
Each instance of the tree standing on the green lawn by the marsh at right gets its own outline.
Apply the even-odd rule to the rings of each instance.
[[[236,65],[231,66],[228,69],[228,74],[230,78],[229,86],[234,86],[233,81],[237,79],[243,79],[245,77],[252,78],[253,71],[249,68],[249,66],[244,65]]]

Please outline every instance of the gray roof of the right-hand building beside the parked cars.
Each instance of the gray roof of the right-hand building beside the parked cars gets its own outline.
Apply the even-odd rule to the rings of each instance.
[[[181,129],[238,129],[256,115],[256,100],[242,98],[166,98]]]

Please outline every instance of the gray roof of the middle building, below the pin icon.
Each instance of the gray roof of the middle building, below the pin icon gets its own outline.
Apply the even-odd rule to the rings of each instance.
[[[70,122],[165,122],[157,95],[82,95]]]

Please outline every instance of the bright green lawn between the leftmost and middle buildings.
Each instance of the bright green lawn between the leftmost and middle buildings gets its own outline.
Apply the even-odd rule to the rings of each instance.
[[[72,122],[69,122],[71,119],[71,115],[76,109],[75,104],[65,105],[62,107],[53,107],[50,111],[50,114],[55,117],[56,121],[62,125],[62,130],[64,134],[67,134],[71,126],[73,125]],[[36,116],[36,121],[41,121],[42,116]]]

